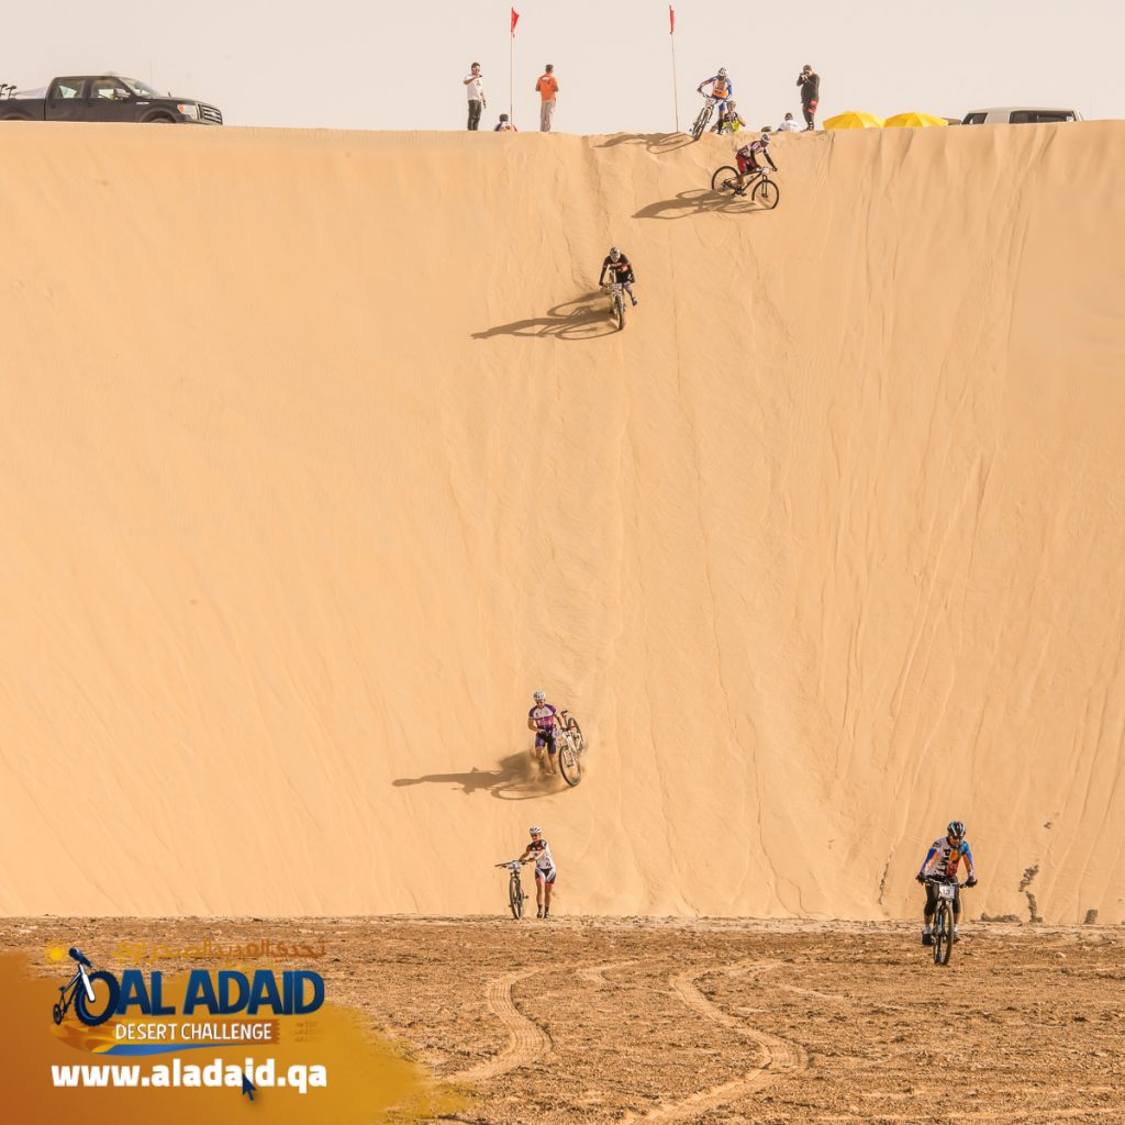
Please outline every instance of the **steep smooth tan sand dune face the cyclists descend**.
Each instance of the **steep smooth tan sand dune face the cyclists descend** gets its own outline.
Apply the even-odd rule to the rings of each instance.
[[[1125,126],[2,142],[0,909],[1125,917]]]

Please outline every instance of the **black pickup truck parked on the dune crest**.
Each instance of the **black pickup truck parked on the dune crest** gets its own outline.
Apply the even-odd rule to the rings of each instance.
[[[8,96],[0,99],[0,122],[223,124],[223,115],[215,106],[196,98],[173,98],[118,74],[56,78],[43,98],[26,98],[8,90]]]

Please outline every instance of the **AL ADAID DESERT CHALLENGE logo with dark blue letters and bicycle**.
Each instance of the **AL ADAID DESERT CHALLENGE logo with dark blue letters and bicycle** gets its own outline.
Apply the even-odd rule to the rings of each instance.
[[[308,1016],[324,1004],[324,979],[312,970],[194,969],[165,979],[126,969],[120,979],[94,971],[70,950],[76,971],[58,989],[55,1034],[96,1054],[150,1055],[191,1047],[277,1043],[285,1017]],[[75,1023],[68,1019],[74,1010]]]

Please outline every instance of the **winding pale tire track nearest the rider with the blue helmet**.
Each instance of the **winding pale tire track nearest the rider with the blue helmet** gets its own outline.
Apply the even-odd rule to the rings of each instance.
[[[750,1040],[765,1052],[765,1062],[759,1063],[748,1070],[741,1078],[736,1078],[730,1082],[722,1082],[705,1090],[700,1090],[678,1101],[669,1101],[650,1109],[647,1114],[630,1114],[622,1125],[632,1122],[678,1122],[742,1097],[746,1094],[754,1094],[777,1081],[784,1074],[800,1073],[809,1065],[808,1055],[804,1051],[786,1040],[771,1035],[768,1032],[760,1032],[756,1027],[750,1027],[737,1016],[731,1016],[721,1008],[716,1007],[696,987],[695,982],[701,976],[706,976],[713,972],[727,972],[737,974],[738,972],[764,971],[777,966],[775,961],[742,961],[728,965],[724,970],[716,969],[692,969],[680,973],[672,979],[672,989],[684,1004],[698,1012],[704,1019],[713,1024],[719,1024],[728,1030],[734,1032],[742,1038]]]

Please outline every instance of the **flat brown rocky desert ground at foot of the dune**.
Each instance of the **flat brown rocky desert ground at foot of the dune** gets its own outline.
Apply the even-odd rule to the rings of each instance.
[[[944,969],[894,924],[8,919],[0,946],[43,964],[74,927],[91,948],[323,942],[328,998],[469,1089],[456,1119],[480,1125],[1125,1120],[1108,927],[969,921]]]

